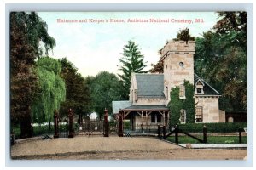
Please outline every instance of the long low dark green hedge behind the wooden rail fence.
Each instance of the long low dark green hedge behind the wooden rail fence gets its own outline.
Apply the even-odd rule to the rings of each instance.
[[[207,126],[207,133],[236,133],[239,128],[247,127],[247,122],[186,123],[178,127],[185,133],[202,133],[204,125]]]

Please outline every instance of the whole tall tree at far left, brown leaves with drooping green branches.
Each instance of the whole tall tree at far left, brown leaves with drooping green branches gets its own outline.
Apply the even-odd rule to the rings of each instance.
[[[33,20],[30,16],[34,16]],[[35,28],[42,23],[38,14],[12,12],[10,14],[10,110],[11,122],[20,123],[20,138],[32,137],[31,105],[37,89],[35,59],[39,56],[39,42],[47,49],[55,46],[44,24],[42,29]]]

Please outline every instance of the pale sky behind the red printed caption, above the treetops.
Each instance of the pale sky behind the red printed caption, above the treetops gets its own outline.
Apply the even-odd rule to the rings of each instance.
[[[49,56],[67,57],[84,77],[96,76],[100,71],[118,73],[118,59],[129,40],[136,42],[144,61],[148,62],[145,70],[149,70],[151,63],[155,64],[160,58],[158,50],[167,40],[176,37],[177,31],[189,27],[192,36],[201,37],[218,20],[212,12],[38,12],[38,15],[46,21],[49,35],[56,40],[53,54],[49,52]],[[58,19],[78,22],[58,22]],[[95,23],[91,19],[104,22]],[[110,19],[125,22],[114,23]],[[137,22],[128,22],[128,19],[137,19]],[[169,22],[150,22],[150,19]],[[203,23],[195,23],[195,19],[202,19]],[[148,23],[139,20],[148,20]]]

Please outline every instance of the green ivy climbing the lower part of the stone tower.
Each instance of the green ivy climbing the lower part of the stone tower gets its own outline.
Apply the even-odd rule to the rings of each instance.
[[[184,81],[185,99],[179,98],[179,87],[172,88],[170,92],[171,101],[168,107],[171,111],[170,126],[174,127],[180,123],[180,110],[186,111],[186,123],[195,122],[195,101],[194,101],[194,86],[189,81]]]

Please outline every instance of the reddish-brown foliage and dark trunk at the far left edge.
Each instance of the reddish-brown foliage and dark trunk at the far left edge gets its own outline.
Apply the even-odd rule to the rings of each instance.
[[[36,76],[32,72],[34,50],[28,43],[25,24],[16,13],[10,15],[10,114],[12,124],[20,123],[20,137],[32,137],[32,97],[36,89]]]

